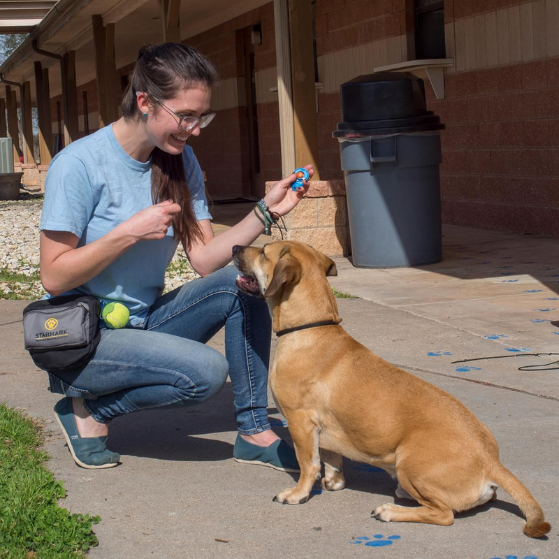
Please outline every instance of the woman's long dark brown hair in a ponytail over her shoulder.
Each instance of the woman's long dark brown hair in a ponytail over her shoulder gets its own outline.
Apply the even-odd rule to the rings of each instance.
[[[139,119],[136,92],[145,92],[161,101],[172,99],[180,89],[198,85],[212,87],[218,75],[213,64],[195,48],[180,43],[146,45],[138,52],[129,85],[122,97],[125,119]],[[184,173],[182,154],[169,154],[155,147],[152,152],[152,201],[173,200],[182,210],[173,219],[175,238],[190,245],[201,238],[202,231],[194,210]]]

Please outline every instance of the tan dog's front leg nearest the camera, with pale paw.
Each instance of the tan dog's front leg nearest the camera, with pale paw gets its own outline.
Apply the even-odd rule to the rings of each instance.
[[[285,415],[301,470],[296,487],[284,489],[273,500],[282,504],[303,504],[309,500],[314,481],[320,476],[319,427],[308,412]]]

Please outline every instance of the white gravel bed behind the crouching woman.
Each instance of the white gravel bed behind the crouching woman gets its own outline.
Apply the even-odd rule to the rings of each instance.
[[[39,271],[39,223],[41,201],[0,202],[0,270],[29,276],[29,282],[0,279],[0,298],[41,298],[41,282],[31,276]],[[167,270],[165,291],[198,277],[182,247],[177,249]]]

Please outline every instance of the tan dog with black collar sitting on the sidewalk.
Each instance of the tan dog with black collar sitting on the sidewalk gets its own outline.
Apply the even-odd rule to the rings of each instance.
[[[342,456],[382,467],[398,479],[396,495],[419,507],[386,503],[372,514],[385,522],[450,525],[453,511],[495,500],[497,486],[518,502],[523,531],[551,529],[542,507],[499,461],[495,437],[456,398],[410,375],[349,336],[327,275],[331,259],[300,242],[233,247],[238,287],[266,298],[279,335],[270,372],[300,465],[296,487],[274,500],[308,500],[324,462],[322,486],[345,486]],[[324,324],[326,323],[326,324]],[[303,327],[303,328],[300,328]]]

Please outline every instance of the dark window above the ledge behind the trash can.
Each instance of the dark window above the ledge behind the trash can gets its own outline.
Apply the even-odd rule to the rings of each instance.
[[[415,0],[416,59],[446,58],[444,0]]]

